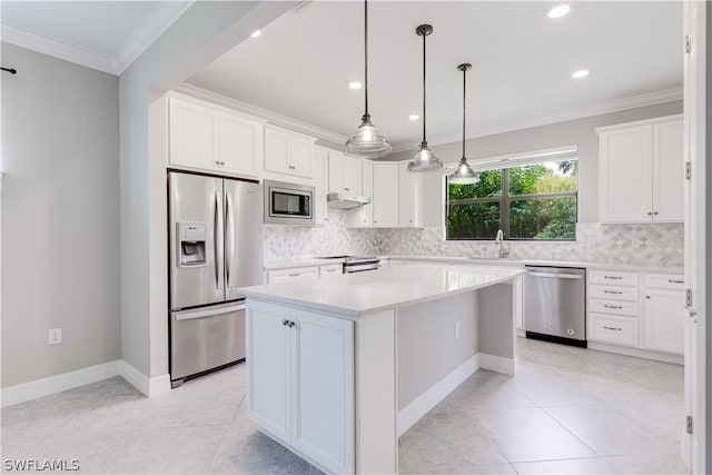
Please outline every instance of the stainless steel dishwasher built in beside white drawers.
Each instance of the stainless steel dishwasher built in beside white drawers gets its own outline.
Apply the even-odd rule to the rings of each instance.
[[[586,347],[586,269],[526,266],[527,338]]]

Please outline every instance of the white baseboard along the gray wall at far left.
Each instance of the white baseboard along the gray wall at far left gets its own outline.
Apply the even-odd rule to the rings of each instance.
[[[63,373],[61,375],[6,387],[0,392],[0,406],[12,406],[24,403],[26,400],[37,399],[38,397],[49,396],[50,394],[61,393],[62,390],[119,376],[120,367],[121,360],[117,359],[101,365],[77,369],[76,372]]]

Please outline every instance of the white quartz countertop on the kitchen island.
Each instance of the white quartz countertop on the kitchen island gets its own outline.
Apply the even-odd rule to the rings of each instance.
[[[511,267],[413,265],[323,279],[245,287],[248,298],[344,317],[376,314],[504,283],[523,274]]]

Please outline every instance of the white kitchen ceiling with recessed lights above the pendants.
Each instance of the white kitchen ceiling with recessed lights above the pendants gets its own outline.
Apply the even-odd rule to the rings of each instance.
[[[372,1],[369,109],[394,149],[414,148],[422,108],[421,23],[427,38],[428,141],[458,140],[461,62],[472,131],[573,110],[599,110],[682,87],[682,2]],[[572,79],[577,69],[591,75]],[[188,83],[348,136],[363,113],[363,3],[312,1],[188,79]],[[674,90],[674,91],[671,91]],[[659,97],[660,95],[655,95]],[[670,99],[669,99],[670,100]],[[659,100],[660,102],[660,100]]]

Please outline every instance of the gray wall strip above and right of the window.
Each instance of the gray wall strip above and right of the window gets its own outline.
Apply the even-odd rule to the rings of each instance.
[[[487,157],[540,150],[566,145],[578,145],[578,222],[599,220],[599,138],[596,127],[631,122],[682,112],[682,101],[661,103],[532,127],[467,140],[467,157],[476,161]],[[458,161],[462,142],[431,147],[445,162]],[[388,160],[407,160],[415,150],[394,154]]]

